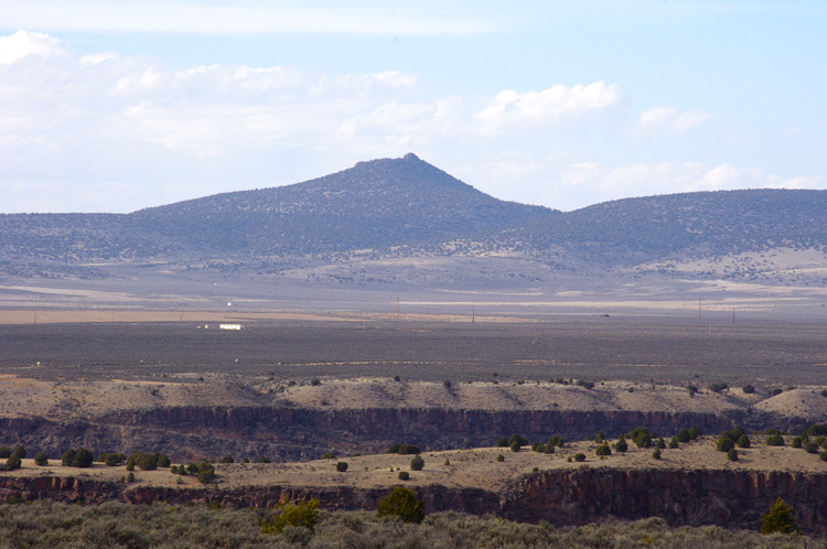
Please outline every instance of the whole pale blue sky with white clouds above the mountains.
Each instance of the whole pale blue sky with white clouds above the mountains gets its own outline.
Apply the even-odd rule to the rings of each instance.
[[[408,152],[497,198],[827,189],[827,3],[0,0],[0,213]]]

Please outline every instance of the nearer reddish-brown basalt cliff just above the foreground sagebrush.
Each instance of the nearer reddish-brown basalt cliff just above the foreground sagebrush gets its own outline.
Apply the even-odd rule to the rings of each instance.
[[[827,473],[730,470],[570,469],[534,473],[501,491],[428,485],[416,488],[430,512],[494,514],[517,521],[581,525],[615,517],[662,517],[673,526],[719,525],[755,529],[777,497],[795,509],[796,526],[827,534]],[[292,487],[174,488],[136,486],[73,477],[0,475],[0,499],[54,499],[98,504],[221,504],[269,507],[284,496],[316,497],[326,509],[376,508],[387,488]]]

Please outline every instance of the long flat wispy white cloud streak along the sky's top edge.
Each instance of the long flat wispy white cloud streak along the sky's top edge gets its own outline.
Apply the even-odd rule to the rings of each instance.
[[[362,2],[362,7],[357,4],[355,8],[320,2],[276,4],[185,0],[28,0],[3,3],[0,20],[3,28],[47,32],[466,35],[502,32],[515,23],[507,11],[402,8],[393,2]]]

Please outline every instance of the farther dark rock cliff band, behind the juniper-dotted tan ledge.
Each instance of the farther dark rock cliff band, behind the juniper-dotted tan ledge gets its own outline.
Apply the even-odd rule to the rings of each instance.
[[[331,409],[287,407],[170,407],[125,410],[87,421],[0,419],[9,442],[60,455],[68,448],[95,452],[158,451],[174,460],[217,455],[318,458],[330,449],[382,452],[393,442],[427,450],[492,445],[518,432],[531,440],[606,435],[646,427],[672,434],[697,424],[706,432],[731,427],[712,413],[664,411],[468,410],[441,408]]]

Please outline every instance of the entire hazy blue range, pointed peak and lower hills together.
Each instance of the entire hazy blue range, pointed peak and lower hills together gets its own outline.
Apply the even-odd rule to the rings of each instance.
[[[825,212],[827,191],[753,190],[560,213],[500,201],[407,154],[131,214],[0,215],[0,276],[107,277],[112,266],[163,263],[340,283],[528,284],[612,271],[780,280],[807,252],[810,284],[827,280]],[[786,262],[767,262],[765,250]]]

